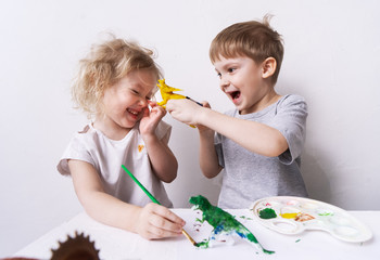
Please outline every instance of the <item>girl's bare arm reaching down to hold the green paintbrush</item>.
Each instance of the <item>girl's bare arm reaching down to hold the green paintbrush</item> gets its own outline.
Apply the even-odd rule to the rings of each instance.
[[[92,165],[68,160],[74,188],[86,212],[94,220],[140,234],[147,239],[178,236],[185,221],[167,208],[148,204],[144,208],[106,194]]]

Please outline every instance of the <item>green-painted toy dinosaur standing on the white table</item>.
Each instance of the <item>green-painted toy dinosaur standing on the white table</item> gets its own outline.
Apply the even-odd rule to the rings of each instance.
[[[210,240],[216,239],[219,235],[236,234],[265,253],[270,255],[275,252],[264,249],[256,237],[242,223],[240,223],[225,210],[211,205],[207,198],[203,197],[202,195],[191,197],[189,203],[194,205],[194,209],[200,209],[203,212],[202,219],[197,219],[197,221],[200,221],[201,223],[207,221],[208,224],[214,227],[208,239],[197,243],[198,247],[207,248]]]

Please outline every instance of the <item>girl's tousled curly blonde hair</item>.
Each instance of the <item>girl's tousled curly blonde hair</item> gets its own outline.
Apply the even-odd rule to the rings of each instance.
[[[132,70],[151,69],[157,79],[162,78],[161,68],[153,57],[152,50],[114,36],[92,46],[88,55],[79,61],[72,86],[75,107],[83,109],[88,118],[102,113],[104,91]]]

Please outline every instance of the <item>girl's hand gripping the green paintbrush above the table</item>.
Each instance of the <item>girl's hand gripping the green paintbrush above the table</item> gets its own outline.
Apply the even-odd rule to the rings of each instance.
[[[137,233],[147,239],[175,237],[182,233],[185,221],[164,206],[148,204],[141,208]]]

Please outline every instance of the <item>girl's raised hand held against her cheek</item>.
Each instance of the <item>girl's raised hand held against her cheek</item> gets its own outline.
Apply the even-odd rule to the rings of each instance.
[[[157,103],[149,101],[149,105],[151,110],[147,107],[140,120],[140,132],[142,135],[154,134],[160,120],[166,115],[166,110],[159,106]]]

